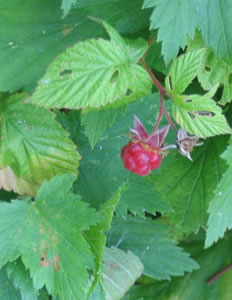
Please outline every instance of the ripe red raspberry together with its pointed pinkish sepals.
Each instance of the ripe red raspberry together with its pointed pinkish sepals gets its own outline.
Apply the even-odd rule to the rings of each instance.
[[[149,135],[142,122],[135,116],[134,128],[130,130],[133,133],[132,141],[121,151],[125,169],[146,176],[151,170],[159,168],[162,154],[165,153],[161,147],[168,130],[169,126],[165,126]]]

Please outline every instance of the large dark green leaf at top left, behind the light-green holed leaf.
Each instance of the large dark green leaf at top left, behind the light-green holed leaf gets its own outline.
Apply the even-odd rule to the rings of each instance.
[[[1,1],[0,90],[31,91],[66,48],[105,36],[103,27],[87,16],[102,18],[125,34],[148,27],[149,11],[141,10],[142,0],[78,0],[78,9],[65,19],[60,6],[61,1],[54,0]]]

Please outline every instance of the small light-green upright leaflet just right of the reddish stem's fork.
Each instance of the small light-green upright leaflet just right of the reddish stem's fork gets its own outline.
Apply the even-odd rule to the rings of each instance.
[[[196,77],[202,65],[206,50],[200,49],[188,52],[175,59],[166,78],[166,87],[171,87],[171,93],[182,94]]]

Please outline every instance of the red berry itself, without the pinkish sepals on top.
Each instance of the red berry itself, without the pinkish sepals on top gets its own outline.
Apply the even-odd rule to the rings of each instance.
[[[159,168],[162,161],[161,154],[155,149],[134,141],[122,148],[121,157],[124,167],[140,176],[146,176],[151,170]]]

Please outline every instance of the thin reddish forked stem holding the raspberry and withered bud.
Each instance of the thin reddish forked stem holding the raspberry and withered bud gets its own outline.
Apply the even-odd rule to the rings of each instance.
[[[168,123],[170,124],[170,126],[174,129],[176,129],[175,124],[173,123],[171,117],[169,116],[169,113],[167,112],[165,105],[164,105],[164,95],[168,96],[169,98],[172,98],[172,95],[170,95],[167,90],[161,85],[161,83],[159,82],[159,80],[156,78],[155,74],[152,72],[152,70],[149,68],[149,66],[146,64],[145,61],[145,57],[147,55],[147,52],[153,42],[154,38],[151,38],[148,41],[148,48],[145,51],[143,57],[141,58],[141,63],[143,64],[144,68],[146,69],[146,71],[148,72],[148,74],[150,75],[154,85],[157,87],[159,93],[160,93],[160,111],[159,111],[159,115],[155,124],[155,127],[153,129],[153,133],[156,132],[158,130],[160,121],[162,120],[163,115],[165,115],[166,119],[168,120]]]

